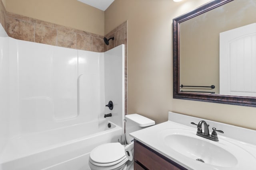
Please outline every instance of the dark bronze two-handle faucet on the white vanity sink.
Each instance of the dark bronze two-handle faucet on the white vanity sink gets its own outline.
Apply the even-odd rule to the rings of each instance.
[[[194,122],[191,122],[192,125],[197,125]],[[204,124],[204,132],[202,132],[202,124]],[[224,133],[223,131],[217,130],[215,127],[212,128],[212,134],[209,134],[209,125],[206,123],[206,121],[201,120],[198,125],[197,125],[197,132],[196,135],[206,138],[206,139],[210,139],[212,141],[219,141],[218,139],[218,135],[216,132],[220,132],[220,133]]]

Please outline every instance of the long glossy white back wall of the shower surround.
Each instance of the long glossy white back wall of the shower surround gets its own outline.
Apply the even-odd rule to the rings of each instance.
[[[9,39],[10,136],[85,123],[103,114],[103,53]]]

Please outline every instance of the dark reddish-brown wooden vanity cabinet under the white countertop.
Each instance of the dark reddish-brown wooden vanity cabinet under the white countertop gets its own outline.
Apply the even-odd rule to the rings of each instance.
[[[134,140],[134,170],[187,170],[146,145]]]

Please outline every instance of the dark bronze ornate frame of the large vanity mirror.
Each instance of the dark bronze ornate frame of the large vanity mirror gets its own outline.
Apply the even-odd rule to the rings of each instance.
[[[180,92],[180,23],[231,1],[233,0],[213,0],[191,12],[173,19],[173,98],[256,107],[255,97]]]

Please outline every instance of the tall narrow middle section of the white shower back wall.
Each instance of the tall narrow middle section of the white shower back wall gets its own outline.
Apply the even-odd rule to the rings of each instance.
[[[75,49],[52,47],[54,119],[74,118],[77,111],[78,54]]]

